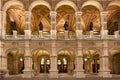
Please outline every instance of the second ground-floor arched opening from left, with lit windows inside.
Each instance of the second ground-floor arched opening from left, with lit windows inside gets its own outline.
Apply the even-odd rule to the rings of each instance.
[[[33,70],[35,74],[49,73],[50,70],[50,54],[44,49],[33,51]]]

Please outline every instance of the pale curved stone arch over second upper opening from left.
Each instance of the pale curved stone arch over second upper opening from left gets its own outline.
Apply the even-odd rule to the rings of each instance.
[[[29,11],[32,11],[32,9],[37,5],[44,5],[51,10],[51,6],[48,2],[43,0],[36,0],[30,4]]]

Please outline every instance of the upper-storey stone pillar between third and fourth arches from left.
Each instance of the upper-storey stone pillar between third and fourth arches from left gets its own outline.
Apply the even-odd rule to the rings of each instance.
[[[82,15],[81,11],[76,12],[76,37],[77,39],[79,39],[80,36],[82,36],[81,15]]]

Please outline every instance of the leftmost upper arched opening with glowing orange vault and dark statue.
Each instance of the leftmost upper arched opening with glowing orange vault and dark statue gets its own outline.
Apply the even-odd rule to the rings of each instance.
[[[12,5],[6,11],[5,32],[12,35],[13,31],[23,35],[25,29],[25,9],[20,5]]]

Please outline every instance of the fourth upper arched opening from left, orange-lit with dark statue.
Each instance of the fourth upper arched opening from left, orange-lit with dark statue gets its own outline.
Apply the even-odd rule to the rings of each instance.
[[[97,7],[93,5],[84,6],[81,19],[83,34],[88,35],[90,31],[93,31],[93,34],[100,34],[100,11]]]

